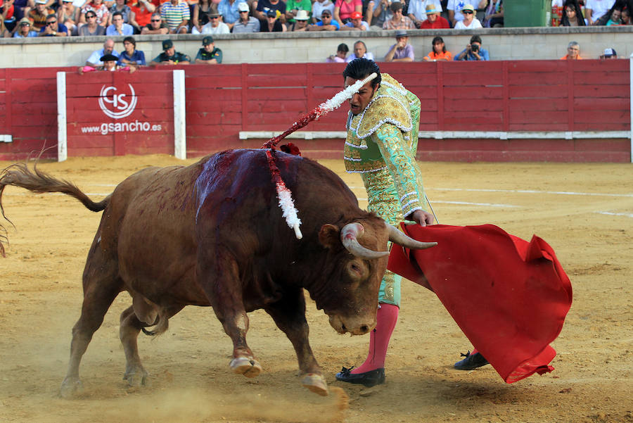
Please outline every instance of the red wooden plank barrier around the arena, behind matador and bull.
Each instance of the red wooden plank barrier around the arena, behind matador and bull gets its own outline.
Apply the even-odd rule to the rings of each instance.
[[[188,156],[258,147],[262,140],[240,140],[238,132],[281,132],[301,113],[343,88],[344,65],[338,63],[179,68],[186,72]],[[58,70],[0,70],[0,134],[13,134],[13,143],[0,143],[0,158],[22,158],[39,151],[43,144],[55,144]],[[630,130],[629,61],[625,60],[381,63],[381,70],[421,98],[421,131]],[[153,72],[162,70],[146,68],[129,77],[149,83]],[[98,82],[105,76],[82,77]],[[172,88],[162,90],[171,92]],[[305,129],[343,131],[345,109],[342,106]],[[123,141],[124,149],[139,154],[172,152],[173,143],[166,138],[146,143]],[[94,144],[90,137],[74,142],[79,145],[71,146],[69,139],[70,156],[72,149],[82,153],[83,146]],[[338,156],[342,149],[338,139],[298,144],[316,155],[321,151]],[[419,147],[419,156],[429,160],[630,160],[629,139],[625,138],[421,139]],[[112,145],[104,148],[112,149]],[[54,157],[54,149],[47,154]]]

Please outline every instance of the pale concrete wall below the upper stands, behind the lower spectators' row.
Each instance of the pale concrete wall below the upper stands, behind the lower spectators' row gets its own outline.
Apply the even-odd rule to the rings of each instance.
[[[599,58],[606,47],[612,47],[620,58],[633,53],[633,26],[622,27],[530,27],[468,30],[412,30],[410,42],[416,61],[430,51],[436,35],[445,39],[447,50],[459,53],[471,35],[480,34],[491,60],[529,60],[560,58],[567,53],[570,41],[580,43],[583,58]],[[215,45],[224,53],[224,63],[308,63],[322,62],[335,53],[336,46],[345,42],[350,49],[362,39],[381,61],[395,42],[395,31],[359,32],[274,32],[257,34],[224,34],[215,36]],[[172,36],[177,51],[195,56],[202,35]],[[113,37],[117,51],[122,37]],[[136,36],[137,48],[145,52],[148,62],[161,52],[164,35]],[[103,37],[65,37],[50,39],[0,38],[2,51],[0,68],[28,68],[83,65],[90,53],[101,49]]]

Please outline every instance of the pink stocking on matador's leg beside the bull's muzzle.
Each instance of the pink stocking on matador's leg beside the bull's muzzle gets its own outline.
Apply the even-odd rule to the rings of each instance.
[[[385,367],[385,358],[389,339],[398,320],[399,308],[397,305],[381,303],[376,315],[376,329],[369,335],[369,355],[360,366],[352,370],[352,374],[369,372]]]

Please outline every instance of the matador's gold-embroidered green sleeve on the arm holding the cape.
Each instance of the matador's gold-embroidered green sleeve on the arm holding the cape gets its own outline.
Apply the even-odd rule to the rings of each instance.
[[[371,139],[381,149],[381,154],[397,189],[404,217],[415,210],[424,210],[426,207],[422,172],[416,163],[415,150],[409,147],[409,141],[404,139],[402,131],[395,125],[385,123],[371,136]]]

